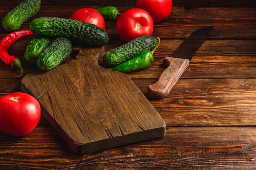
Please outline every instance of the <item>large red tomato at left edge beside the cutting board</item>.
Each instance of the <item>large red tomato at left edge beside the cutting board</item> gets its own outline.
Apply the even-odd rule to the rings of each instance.
[[[12,136],[29,134],[41,116],[40,104],[33,96],[15,92],[0,98],[0,131]]]

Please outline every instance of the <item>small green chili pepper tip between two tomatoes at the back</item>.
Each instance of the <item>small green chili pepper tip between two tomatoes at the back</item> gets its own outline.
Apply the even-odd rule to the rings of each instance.
[[[105,20],[114,21],[117,19],[117,17],[121,14],[118,9],[114,6],[105,6],[102,8],[97,8],[97,11],[101,13],[102,17]]]

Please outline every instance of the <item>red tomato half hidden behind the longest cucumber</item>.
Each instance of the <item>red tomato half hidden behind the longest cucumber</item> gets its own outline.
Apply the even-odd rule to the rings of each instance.
[[[105,20],[96,9],[80,8],[74,11],[69,18],[94,24],[105,30]]]

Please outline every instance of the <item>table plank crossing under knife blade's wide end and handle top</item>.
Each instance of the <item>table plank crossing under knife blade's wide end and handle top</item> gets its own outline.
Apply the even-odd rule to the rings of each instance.
[[[24,75],[38,70],[23,58],[23,53],[29,39],[19,41],[10,49],[10,53],[21,59]],[[153,78],[157,79],[164,70],[162,61],[170,56],[183,40],[161,41],[154,53],[155,61],[149,68],[129,73],[132,79]],[[115,45],[114,45],[115,44]],[[121,45],[114,41],[106,45],[106,52]],[[67,63],[78,53],[78,47],[74,46],[73,53]],[[103,66],[106,69],[106,66]],[[19,69],[12,69],[0,62],[0,78],[15,78]],[[193,56],[189,67],[183,73],[182,78],[254,78],[256,77],[256,41],[255,40],[206,40]]]

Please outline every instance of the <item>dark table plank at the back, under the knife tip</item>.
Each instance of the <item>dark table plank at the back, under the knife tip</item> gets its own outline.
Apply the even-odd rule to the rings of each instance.
[[[25,22],[20,29],[29,29],[30,22],[39,16],[68,18],[77,8],[79,6],[71,6],[68,9],[42,6],[41,10]],[[125,11],[128,8],[130,7],[121,7],[120,10]],[[8,11],[9,9],[3,9],[0,17],[4,17]],[[167,19],[154,25],[153,35],[162,38],[186,38],[200,27],[214,25],[211,38],[251,39],[256,37],[255,20],[254,8],[195,8],[188,10],[173,7],[171,15]],[[119,39],[115,28],[114,22],[106,22],[106,31],[110,39]],[[0,37],[7,34],[6,31],[3,33],[0,34]]]

